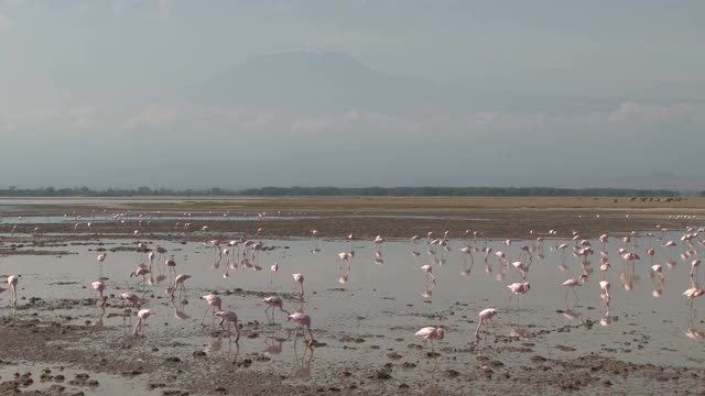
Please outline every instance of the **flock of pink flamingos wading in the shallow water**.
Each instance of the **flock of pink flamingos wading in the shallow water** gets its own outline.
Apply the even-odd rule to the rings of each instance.
[[[705,294],[697,279],[701,260],[695,258],[695,255],[698,254],[697,245],[705,246],[705,241],[699,239],[701,235],[705,235],[705,231],[703,229],[688,228],[686,230],[686,233],[681,238],[681,242],[669,240],[662,242],[660,245],[657,244],[654,248],[653,239],[655,238],[657,240],[661,240],[665,235],[664,229],[660,229],[659,227],[657,227],[657,229],[659,229],[659,231],[661,232],[660,237],[652,232],[647,232],[644,234],[648,240],[648,248],[646,250],[646,253],[651,261],[651,265],[648,268],[650,272],[650,278],[654,284],[653,296],[661,297],[663,295],[662,290],[668,276],[668,271],[675,266],[675,262],[672,258],[674,254],[673,251],[676,246],[683,244],[685,250],[681,258],[683,258],[684,261],[690,260],[691,270],[688,276],[692,285],[692,287],[683,293],[683,296],[685,296],[687,306],[692,312],[695,309],[695,300]],[[209,229],[207,226],[204,226],[203,228],[200,228],[200,231],[207,233],[209,232]],[[262,229],[258,230],[258,235],[261,232],[263,232]],[[471,274],[473,266],[475,265],[475,255],[481,254],[481,260],[485,263],[486,272],[490,273],[494,271],[495,266],[498,266],[500,270],[497,275],[497,279],[506,282],[506,287],[509,289],[508,297],[510,304],[508,310],[500,310],[498,308],[490,307],[484,308],[479,311],[477,327],[474,331],[475,339],[481,339],[481,330],[484,326],[487,327],[487,324],[490,324],[492,329],[495,329],[494,318],[496,318],[500,312],[506,312],[514,309],[511,305],[512,299],[517,299],[516,309],[521,309],[519,304],[520,299],[528,299],[531,292],[531,284],[528,280],[530,268],[533,265],[534,258],[542,258],[545,256],[545,245],[549,245],[549,250],[560,256],[561,265],[558,266],[558,268],[561,271],[571,271],[571,267],[566,264],[566,257],[568,253],[572,253],[573,256],[579,261],[579,276],[571,277],[562,284],[555,285],[556,287],[562,286],[566,288],[566,304],[568,301],[571,292],[573,292],[575,301],[577,302],[579,300],[576,288],[585,289],[587,287],[585,285],[588,285],[590,283],[590,278],[593,276],[593,270],[590,267],[590,257],[595,254],[595,251],[593,250],[593,242],[590,242],[589,239],[584,238],[577,230],[572,231],[572,234],[568,238],[568,242],[564,242],[565,239],[560,239],[557,237],[557,233],[558,232],[556,230],[549,230],[545,233],[540,233],[536,230],[530,230],[529,234],[534,238],[534,244],[522,244],[517,249],[517,244],[514,244],[516,241],[512,241],[510,239],[502,239],[500,242],[502,245],[501,251],[494,251],[491,246],[488,246],[488,239],[484,238],[484,233],[481,231],[467,230],[463,238],[458,239],[458,241],[462,241],[463,243],[463,246],[458,249],[458,251],[462,253],[464,263],[462,274],[464,276],[469,276]],[[311,230],[311,234],[314,240],[314,246],[311,250],[311,253],[317,254],[322,252],[319,245],[319,232],[313,229]],[[541,235],[538,237],[539,234]],[[129,277],[140,278],[139,283],[141,285],[142,295],[144,295],[148,285],[154,286],[164,280],[167,280],[169,286],[165,289],[165,294],[169,295],[172,300],[175,300],[176,294],[178,293],[181,299],[181,296],[186,293],[186,282],[188,279],[192,279],[193,275],[177,274],[176,260],[174,258],[174,256],[167,256],[169,251],[164,246],[156,245],[153,250],[150,250],[148,243],[141,240],[141,232],[135,230],[134,237],[137,239],[137,252],[139,252],[141,256],[144,256],[144,253],[147,253],[145,257],[148,258],[149,264],[145,264],[144,260],[142,260],[143,263],[141,263],[134,271],[132,271],[129,274]],[[642,235],[639,232],[633,231],[629,235],[625,235],[623,238],[621,238],[621,246],[617,250],[616,257],[618,257],[617,261],[619,261],[619,266],[621,268],[621,271],[619,272],[619,280],[625,290],[631,290],[633,288],[636,267],[638,266],[638,262],[641,261],[640,255],[637,253],[638,241],[641,238]],[[337,257],[340,260],[340,276],[338,279],[340,284],[345,284],[349,279],[350,265],[352,258],[355,257],[352,241],[358,240],[358,238],[355,238],[354,234],[350,233],[347,240],[350,242],[349,251],[337,253]],[[384,263],[382,257],[384,256],[383,244],[386,241],[386,238],[383,238],[382,235],[377,235],[373,240],[370,241],[375,246],[373,262],[376,264],[382,265]],[[421,237],[414,234],[410,238],[409,241],[411,243],[411,254],[417,257],[421,254],[417,251],[420,241],[422,241]],[[604,233],[595,242],[596,244],[599,243],[599,245],[601,245],[601,251],[599,252],[599,270],[603,274],[603,279],[599,280],[598,284],[600,293],[599,297],[605,305],[605,315],[603,320],[600,321],[600,323],[603,323],[604,326],[609,324],[609,310],[612,305],[612,294],[610,290],[611,284],[607,280],[607,276],[610,271],[612,271],[612,266],[616,265],[616,263],[611,262],[610,260],[610,254],[608,252],[608,234]],[[421,244],[423,245],[423,242],[421,242]],[[227,248],[224,248],[225,245],[227,245]],[[445,254],[453,251],[452,245],[453,244],[449,239],[449,231],[447,230],[443,233],[442,238],[434,238],[433,231],[429,231],[426,233],[426,252],[430,256],[433,257],[433,264],[425,264],[421,266],[421,271],[424,277],[424,292],[422,293],[423,298],[431,298],[433,290],[436,287],[434,265],[441,267],[446,263]],[[512,245],[514,246],[513,249]],[[228,242],[223,242],[219,239],[210,239],[206,242],[203,242],[203,246],[213,252],[213,263],[210,265],[210,268],[213,271],[220,271],[220,265],[225,266],[225,272],[223,273],[224,278],[229,278],[230,270],[237,270],[239,267],[261,271],[262,267],[260,265],[260,252],[268,250],[268,248],[261,241],[248,240],[246,238],[230,240]],[[657,253],[655,249],[659,246],[663,250],[663,252],[665,253],[664,256],[668,258],[662,264],[653,262]],[[513,254],[512,250],[514,251]],[[91,288],[95,290],[97,296],[96,304],[105,311],[108,298],[104,294],[107,289],[107,285],[102,279],[102,265],[106,262],[109,262],[109,258],[107,257],[107,253],[102,252],[96,257],[96,260],[100,267],[99,279],[91,283]],[[274,264],[271,265],[270,270],[270,283],[272,283],[274,274],[280,271],[280,264],[274,262]],[[156,276],[154,276],[155,273]],[[508,275],[513,277],[514,282],[506,280],[506,277]],[[299,286],[297,298],[301,300],[303,307],[304,274],[293,273],[292,279]],[[18,304],[19,278],[18,276],[10,275],[7,277],[7,283],[11,289],[10,305],[12,307],[15,307]],[[134,336],[143,333],[143,328],[147,324],[148,318],[154,316],[155,311],[150,308],[144,308],[143,298],[141,298],[135,293],[126,292],[120,296],[129,309],[137,310],[138,321],[132,333]],[[223,298],[216,294],[204,295],[202,299],[205,300],[206,305],[206,309],[202,318],[202,324],[205,326],[206,317],[210,311],[212,327],[215,327],[216,319],[219,319],[219,326],[221,327],[223,331],[228,334],[228,337],[230,337],[230,327],[232,327],[235,331],[235,342],[238,343],[240,340],[240,323],[238,322],[238,315],[236,314],[236,311],[224,309]],[[289,310],[284,309],[284,300],[275,294],[265,296],[261,300],[261,302],[267,306],[264,311],[270,322],[274,322],[274,314],[276,310],[284,312],[288,321],[297,324],[296,339],[299,338],[299,333],[302,332],[306,344],[310,346],[315,345],[314,333],[312,330],[312,318],[310,315],[304,314],[302,309],[299,309],[294,312],[290,312]],[[424,340],[424,343],[426,341],[431,342],[431,352],[433,355],[435,353],[434,341],[444,340],[446,331],[447,327],[445,327],[444,324],[434,323],[434,326],[426,326],[421,328],[415,332],[414,336],[421,337]],[[307,338],[306,334],[308,336]],[[423,350],[423,348],[421,350]]]

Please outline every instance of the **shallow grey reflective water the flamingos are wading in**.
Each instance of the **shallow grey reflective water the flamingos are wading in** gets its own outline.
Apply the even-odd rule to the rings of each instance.
[[[550,342],[544,341],[554,338],[576,349],[596,348],[590,351],[599,352],[599,345],[611,345],[625,340],[628,331],[638,330],[650,337],[649,346],[621,358],[649,361],[658,354],[663,362],[687,364],[688,358],[702,353],[705,348],[705,342],[701,342],[701,320],[696,316],[702,297],[688,300],[691,308],[683,296],[683,290],[699,285],[697,267],[692,262],[698,257],[702,248],[697,238],[692,242],[680,241],[682,232],[660,231],[659,237],[642,232],[629,235],[629,242],[620,238],[610,238],[604,243],[593,241],[592,244],[600,246],[598,253],[592,252],[582,239],[573,240],[571,235],[544,235],[541,241],[510,243],[469,237],[436,243],[431,243],[433,240],[430,239],[425,246],[423,240],[411,244],[409,240],[384,241],[383,245],[356,240],[355,250],[351,239],[258,238],[224,249],[225,242],[214,245],[207,235],[204,235],[205,243],[187,244],[152,237],[143,243],[154,252],[159,245],[164,253],[154,256],[134,249],[118,250],[108,254],[105,262],[96,262],[95,245],[70,245],[67,249],[76,255],[0,257],[0,273],[21,275],[24,299],[21,296],[17,311],[20,317],[29,317],[36,310],[28,304],[31,297],[95,300],[90,284],[98,275],[106,279],[107,314],[99,306],[91,306],[85,312],[91,324],[119,328],[124,320],[126,328],[132,326],[137,309],[122,316],[124,308],[118,298],[121,293],[133,290],[142,296],[143,306],[153,309],[159,318],[150,318],[152,329],[147,332],[145,342],[166,337],[194,337],[208,345],[207,353],[227,350],[228,361],[234,362],[238,358],[232,358],[238,353],[230,353],[237,344],[225,345],[232,340],[224,338],[226,334],[215,326],[215,319],[214,326],[198,326],[198,317],[207,320],[208,310],[205,314],[203,310],[216,308],[195,297],[217,293],[220,308],[238,315],[243,337],[237,346],[242,354],[264,352],[288,364],[286,370],[293,376],[304,378],[315,377],[313,367],[339,359],[387,362],[386,352],[382,352],[386,349],[394,349],[403,359],[413,360],[414,351],[404,348],[413,339],[410,329],[437,324],[429,318],[435,318],[438,312],[444,312],[441,321],[448,328],[438,345],[464,348],[473,339],[477,314],[488,307],[503,312],[495,318],[498,337],[531,339],[536,353],[540,351],[549,356],[555,353],[547,346]],[[661,240],[679,242],[664,246],[665,242]],[[133,241],[101,242],[107,249],[134,246]],[[620,253],[620,250],[623,251]],[[481,261],[479,271],[474,268],[476,261]],[[593,262],[595,266],[599,263],[599,273],[594,271]],[[151,271],[139,276],[140,283],[135,284],[129,274],[137,273],[140,264]],[[262,264],[268,271],[261,271]],[[690,276],[691,272],[693,276]],[[173,288],[176,274],[192,276],[187,280],[189,293]],[[305,277],[305,305],[299,298],[299,294],[303,294],[303,282],[296,284],[291,274]],[[566,290],[562,286],[566,278],[582,278],[579,289],[572,288],[576,293],[571,298],[566,297],[571,288]],[[608,288],[607,295],[600,280],[621,287]],[[530,286],[517,286],[512,294],[514,289],[508,288],[512,284]],[[171,292],[177,292],[174,298],[164,293],[169,287],[172,287]],[[0,298],[7,298],[4,296],[7,294],[0,294]],[[281,304],[263,302],[268,296],[279,297]],[[189,304],[188,298],[194,302]],[[310,315],[313,337],[333,348],[318,349],[314,344],[311,349],[306,342],[296,342],[302,337],[300,330],[307,329],[305,326],[299,329],[296,323],[288,321],[289,312]],[[11,311],[2,308],[0,314],[9,316]],[[566,322],[576,330],[555,332]],[[601,326],[588,330],[590,323]],[[380,338],[378,343],[384,345],[381,351],[350,348],[341,352],[336,348],[346,336],[356,339],[388,334],[390,328],[403,330],[393,339]],[[541,330],[549,334],[535,336]],[[248,338],[248,334],[258,337]],[[698,343],[679,342],[677,338],[684,338],[684,334]],[[307,331],[304,338],[310,338]],[[402,341],[395,341],[397,338]],[[487,340],[480,341],[478,348],[485,348],[485,342]],[[661,350],[665,345],[673,352]],[[449,364],[444,360],[438,363]]]

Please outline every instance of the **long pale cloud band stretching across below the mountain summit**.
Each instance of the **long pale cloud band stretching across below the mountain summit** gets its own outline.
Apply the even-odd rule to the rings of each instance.
[[[0,135],[21,138],[59,133],[65,138],[101,139],[122,134],[188,141],[194,138],[272,141],[316,136],[319,140],[438,142],[443,144],[568,144],[610,140],[620,135],[649,139],[669,125],[685,136],[705,124],[705,106],[694,102],[646,105],[625,101],[601,112],[476,111],[448,114],[438,110],[405,116],[359,109],[302,111],[242,106],[145,103],[41,105],[0,108]],[[531,143],[530,143],[531,142]]]

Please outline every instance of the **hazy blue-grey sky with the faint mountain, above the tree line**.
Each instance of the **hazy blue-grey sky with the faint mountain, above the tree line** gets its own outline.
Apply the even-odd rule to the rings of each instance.
[[[704,14],[0,0],[0,187],[701,190]]]

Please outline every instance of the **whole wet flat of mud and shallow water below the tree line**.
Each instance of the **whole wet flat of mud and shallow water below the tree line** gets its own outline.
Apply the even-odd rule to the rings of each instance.
[[[702,204],[606,198],[13,201],[9,209],[0,206],[0,274],[20,276],[20,301],[7,307],[8,292],[0,294],[0,394],[703,395],[705,318],[697,312],[703,301],[691,310],[681,295],[691,283],[688,263],[703,248],[697,238],[690,246],[680,241],[687,227],[701,227]],[[184,229],[186,222],[191,228]],[[551,229],[557,234],[549,235]],[[426,233],[442,237],[446,230],[449,248],[432,253]],[[466,230],[482,234],[473,239]],[[599,256],[586,265],[554,249],[572,241],[573,230],[592,239],[596,251],[595,238],[610,234],[601,249],[610,254],[611,272],[599,273]],[[630,267],[616,251],[625,245],[620,237],[631,231],[639,234],[628,248],[643,258]],[[657,235],[647,238],[647,232]],[[352,242],[349,233],[356,235]],[[376,246],[370,240],[377,234],[388,242]],[[422,237],[415,245],[412,234]],[[228,264],[204,245],[242,235],[264,249],[235,267],[235,248]],[[536,237],[545,238],[543,244]],[[149,263],[135,238],[150,251],[165,246],[178,272],[193,275],[185,294],[171,299],[164,293],[167,282],[142,286],[127,275]],[[514,240],[511,246],[502,244],[507,238]],[[679,241],[675,250],[661,248],[671,239]],[[650,243],[658,248],[652,258],[642,252]],[[517,273],[494,255],[462,254],[466,244],[513,257],[519,245],[530,245],[531,292],[509,301],[506,285],[518,280]],[[354,258],[341,262],[337,253],[348,250]],[[694,255],[680,258],[688,251]],[[96,262],[98,252],[108,252],[104,264]],[[654,277],[649,260],[663,264],[668,282]],[[269,271],[273,262],[279,274]],[[433,266],[431,290],[423,264]],[[588,270],[590,280],[577,290],[579,298],[567,298],[560,284]],[[294,272],[306,275],[303,300],[291,279]],[[612,283],[609,309],[599,298],[603,276]],[[108,287],[105,311],[90,288],[98,277]],[[140,294],[143,306],[156,314],[138,337],[132,334],[135,312],[119,298],[127,290]],[[232,331],[204,316],[199,296],[209,293],[238,314],[239,343]],[[312,316],[312,348],[283,312],[274,319],[264,312],[261,298],[270,294],[282,297],[284,309]],[[477,312],[489,306],[501,314],[477,340]],[[437,324],[446,328],[446,338],[432,352],[413,333]]]

